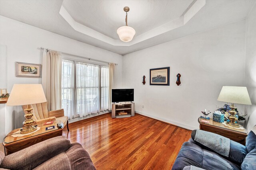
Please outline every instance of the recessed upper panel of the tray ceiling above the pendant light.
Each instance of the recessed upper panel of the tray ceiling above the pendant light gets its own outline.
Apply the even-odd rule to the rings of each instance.
[[[63,6],[78,23],[118,39],[116,30],[125,25],[124,6],[130,8],[128,25],[136,30],[138,36],[179,18],[192,2],[193,0],[64,0]]]

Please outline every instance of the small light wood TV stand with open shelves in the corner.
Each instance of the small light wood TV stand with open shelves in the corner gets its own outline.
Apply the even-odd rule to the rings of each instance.
[[[126,115],[119,115],[120,111],[127,112]],[[134,103],[119,102],[112,104],[112,118],[131,117],[134,116]]]

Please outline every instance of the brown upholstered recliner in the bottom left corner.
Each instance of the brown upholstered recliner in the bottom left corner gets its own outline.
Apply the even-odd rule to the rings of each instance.
[[[64,136],[54,137],[4,156],[0,169],[10,170],[96,170],[86,150]]]

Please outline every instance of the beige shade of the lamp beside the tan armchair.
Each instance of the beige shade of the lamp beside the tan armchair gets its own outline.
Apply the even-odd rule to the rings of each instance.
[[[42,84],[14,84],[6,106],[46,102]]]

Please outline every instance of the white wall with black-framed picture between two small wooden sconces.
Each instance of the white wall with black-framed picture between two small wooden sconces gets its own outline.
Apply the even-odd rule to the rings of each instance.
[[[214,112],[225,104],[217,101],[222,86],[245,85],[245,25],[241,20],[124,55],[124,88],[134,88],[136,112],[198,128],[202,110]],[[150,86],[149,69],[167,66],[170,86]]]

